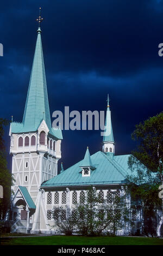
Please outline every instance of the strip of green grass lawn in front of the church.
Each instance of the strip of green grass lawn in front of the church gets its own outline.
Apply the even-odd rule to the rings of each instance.
[[[130,236],[1,237],[1,245],[163,245],[163,239]]]

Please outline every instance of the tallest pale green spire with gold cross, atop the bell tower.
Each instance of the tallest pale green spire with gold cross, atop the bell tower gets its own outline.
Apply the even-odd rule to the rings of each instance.
[[[51,117],[49,112],[45,66],[43,61],[41,28],[42,21],[39,16],[39,28],[37,29],[37,40],[33,59],[32,72],[30,75],[26,106],[23,115],[23,126],[30,130],[36,130],[42,119],[45,120],[51,130]]]

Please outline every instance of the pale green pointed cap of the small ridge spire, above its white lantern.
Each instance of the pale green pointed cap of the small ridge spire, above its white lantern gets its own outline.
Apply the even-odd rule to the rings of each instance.
[[[109,97],[108,97],[108,106],[106,110],[105,129],[104,129],[104,136],[103,136],[103,142],[106,142],[106,141],[114,142],[114,136],[113,136],[112,124],[111,124],[111,111],[109,108]]]

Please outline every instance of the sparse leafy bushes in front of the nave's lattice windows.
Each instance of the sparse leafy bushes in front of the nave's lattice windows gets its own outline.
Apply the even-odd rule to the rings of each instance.
[[[127,212],[122,198],[115,195],[107,203],[91,187],[87,190],[85,203],[76,204],[72,209],[68,206],[53,208],[53,227],[66,235],[96,236],[106,234],[108,230],[110,234],[115,234],[118,228],[122,228],[122,217]]]

